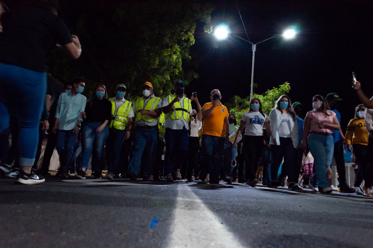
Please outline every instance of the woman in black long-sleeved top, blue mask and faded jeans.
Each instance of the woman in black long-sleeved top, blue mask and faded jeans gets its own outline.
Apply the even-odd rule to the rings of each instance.
[[[95,177],[100,178],[102,151],[109,136],[109,127],[107,123],[112,118],[112,104],[107,100],[106,87],[103,84],[97,84],[91,99],[85,106],[85,112],[81,112],[84,126],[82,131],[82,171],[76,176],[85,179],[85,171],[88,167],[91,154],[95,171]],[[93,150],[93,153],[92,153]]]

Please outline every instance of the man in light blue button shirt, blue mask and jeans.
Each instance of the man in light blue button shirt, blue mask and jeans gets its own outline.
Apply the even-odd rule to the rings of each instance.
[[[57,176],[69,177],[68,169],[71,161],[76,137],[83,118],[80,113],[84,112],[87,98],[81,93],[84,90],[85,83],[80,78],[73,79],[71,92],[60,94],[56,110],[56,122],[53,127],[53,133],[57,133],[56,148],[60,156],[60,169]]]

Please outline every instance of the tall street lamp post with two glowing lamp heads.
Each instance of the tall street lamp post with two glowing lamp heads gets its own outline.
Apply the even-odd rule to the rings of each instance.
[[[219,40],[224,40],[228,37],[228,34],[229,34],[229,30],[228,30],[228,27],[226,27],[225,25],[220,25],[216,28],[215,32],[215,37]],[[262,43],[264,41],[267,41],[267,40],[270,40],[272,38],[275,38],[275,37],[278,37],[280,35],[282,35],[284,38],[286,39],[291,39],[295,36],[295,31],[293,29],[289,29],[289,30],[286,30],[285,32],[283,32],[283,34],[276,34],[276,35],[273,35],[272,37],[269,37],[265,40],[262,40],[262,41],[259,41],[257,43],[252,43],[251,41],[249,40],[245,40],[244,38],[241,38],[235,34],[233,34],[235,37],[238,37],[240,38],[241,40],[244,40],[248,43],[251,44],[251,49],[253,50],[253,63],[252,63],[252,66],[251,66],[251,87],[250,87],[250,102],[251,100],[253,100],[253,86],[254,86],[254,60],[255,60],[255,51],[256,51],[256,45],[259,44],[259,43]]]

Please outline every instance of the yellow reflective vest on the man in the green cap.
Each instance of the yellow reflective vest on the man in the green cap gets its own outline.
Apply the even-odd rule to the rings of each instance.
[[[116,104],[115,104],[115,97],[109,99],[112,103],[112,121],[110,121],[109,128],[114,127],[118,130],[124,130],[126,128],[126,124],[128,123],[128,115],[131,112],[132,102],[125,101],[122,105],[119,106],[118,111],[115,114]]]

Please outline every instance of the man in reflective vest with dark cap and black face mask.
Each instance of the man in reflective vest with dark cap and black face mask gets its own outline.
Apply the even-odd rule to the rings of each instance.
[[[181,180],[180,169],[188,155],[189,121],[192,112],[191,100],[184,96],[185,84],[179,80],[175,83],[175,93],[163,101],[166,154],[164,157],[164,174],[167,182]],[[175,159],[174,159],[175,158]],[[175,162],[175,164],[173,164]]]

